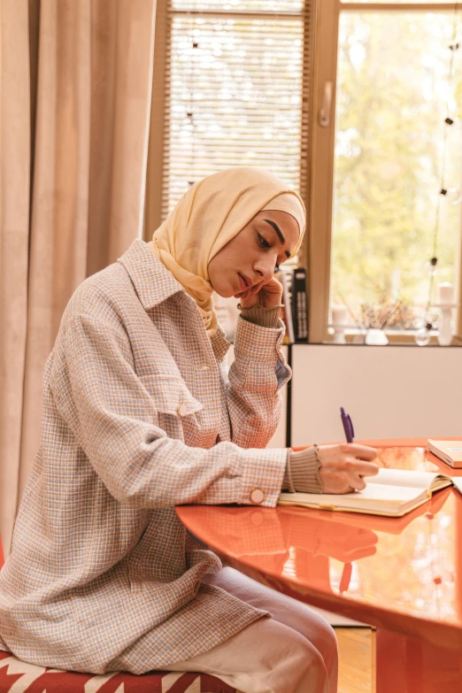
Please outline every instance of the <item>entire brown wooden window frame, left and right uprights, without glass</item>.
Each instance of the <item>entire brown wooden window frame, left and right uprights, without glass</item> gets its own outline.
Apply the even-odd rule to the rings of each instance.
[[[342,0],[313,0],[310,17],[304,27],[304,78],[302,119],[301,195],[307,210],[307,232],[299,252],[302,265],[309,269],[309,341],[331,340],[327,334],[330,295],[330,255],[332,241],[332,205],[334,194],[335,84],[337,69],[338,28],[341,12],[431,12],[454,11],[455,3],[343,3]],[[143,238],[149,241],[162,222],[162,182],[165,172],[164,135],[166,123],[166,67],[170,51],[168,0],[158,0],[150,141],[148,153]],[[308,52],[307,52],[308,51]],[[320,108],[324,89],[333,85],[331,119],[321,127]],[[306,102],[309,107],[306,107]],[[462,227],[462,224],[461,224]],[[462,269],[462,233],[458,242],[458,267]],[[462,337],[462,272],[456,281],[457,337]],[[347,340],[352,336],[347,335]],[[413,343],[412,334],[389,334],[390,343]],[[436,343],[435,335],[431,343]]]

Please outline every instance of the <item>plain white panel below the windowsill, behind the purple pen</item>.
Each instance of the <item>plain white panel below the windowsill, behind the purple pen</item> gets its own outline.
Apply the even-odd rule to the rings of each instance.
[[[462,435],[462,349],[294,344],[291,443]]]

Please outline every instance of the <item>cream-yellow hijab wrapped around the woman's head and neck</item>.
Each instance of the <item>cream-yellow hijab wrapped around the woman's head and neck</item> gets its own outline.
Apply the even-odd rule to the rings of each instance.
[[[212,258],[261,210],[289,212],[298,222],[302,243],[305,211],[302,198],[262,169],[228,168],[193,185],[155,231],[151,250],[192,296],[207,334],[217,329],[213,287],[207,267]]]

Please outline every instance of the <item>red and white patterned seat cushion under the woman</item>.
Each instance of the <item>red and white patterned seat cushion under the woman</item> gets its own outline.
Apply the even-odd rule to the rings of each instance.
[[[21,662],[0,651],[0,693],[237,693],[210,674],[78,674]]]

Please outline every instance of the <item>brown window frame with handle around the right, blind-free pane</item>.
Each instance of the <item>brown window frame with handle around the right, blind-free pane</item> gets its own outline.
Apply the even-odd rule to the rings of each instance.
[[[338,58],[338,31],[341,12],[454,12],[456,3],[357,3],[342,0],[318,0],[314,42],[314,89],[312,117],[312,186],[310,190],[310,214],[308,219],[310,308],[309,342],[323,343],[332,340],[327,322],[330,296],[330,261],[332,244],[332,212],[334,199],[334,150],[335,150],[335,96]],[[462,13],[461,13],[462,16]],[[320,109],[323,104],[325,85],[332,83],[330,122],[320,126]],[[462,215],[462,205],[461,205]],[[455,312],[453,344],[460,343],[462,336],[462,221],[458,238],[458,274],[455,296],[458,308]],[[347,335],[347,341],[353,335]],[[389,332],[390,343],[413,343],[413,332]],[[437,343],[432,335],[430,343]]]

